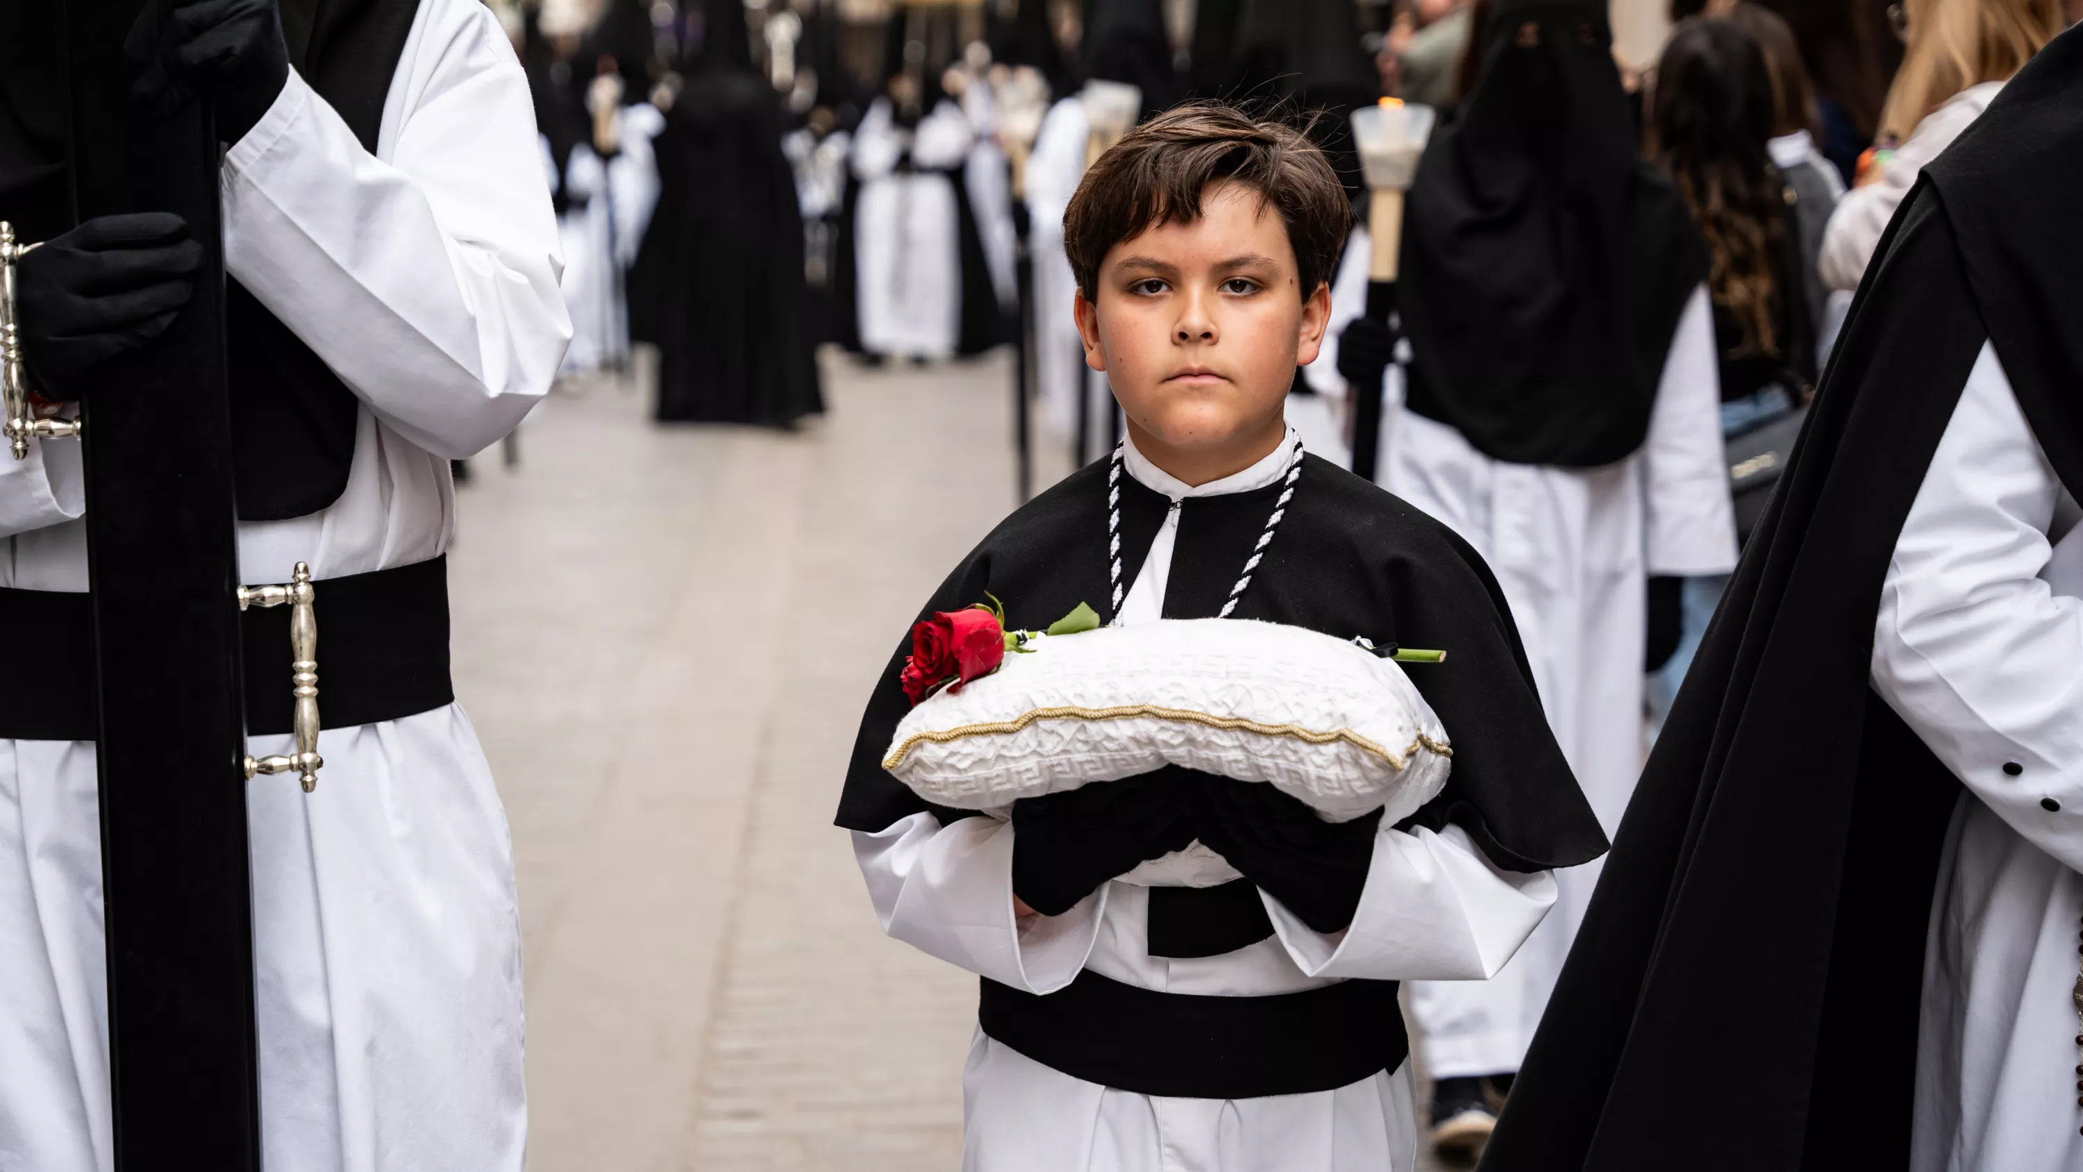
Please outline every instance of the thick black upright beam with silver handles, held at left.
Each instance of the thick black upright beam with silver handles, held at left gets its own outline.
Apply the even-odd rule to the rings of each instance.
[[[81,396],[94,629],[79,652],[98,668],[115,1168],[254,1172],[221,152],[202,102],[162,114],[129,98],[140,65],[123,37],[167,0],[62,2],[75,214],[177,212],[204,246],[187,308]]]

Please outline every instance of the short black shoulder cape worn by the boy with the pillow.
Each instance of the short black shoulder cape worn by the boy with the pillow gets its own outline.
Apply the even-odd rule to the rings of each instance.
[[[1008,516],[919,612],[960,610],[989,591],[1014,629],[1039,631],[1079,602],[1106,614],[1106,473],[1100,460]],[[1164,591],[1166,618],[1210,618],[1258,541],[1281,485],[1189,498]],[[1121,477],[1121,570],[1133,581],[1171,502]],[[1291,622],[1375,645],[1444,647],[1444,664],[1410,679],[1454,739],[1446,789],[1414,824],[1456,822],[1506,870],[1533,872],[1598,858],[1606,837],[1541,716],[1519,629],[1489,566],[1444,525],[1352,473],[1304,458],[1302,479],[1237,618]],[[881,831],[931,810],[883,770],[898,720],[910,710],[898,683],[910,635],[898,643],[860,718],[837,824]]]

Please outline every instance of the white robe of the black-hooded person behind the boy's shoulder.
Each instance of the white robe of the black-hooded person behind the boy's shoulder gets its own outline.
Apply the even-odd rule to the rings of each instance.
[[[1633,456],[1604,468],[1506,464],[1408,410],[1383,456],[1385,487],[1460,533],[1498,575],[1548,724],[1608,837],[1641,774],[1646,581],[1735,566],[1718,387],[1702,285],[1679,319],[1650,435]],[[1556,914],[1494,980],[1412,985],[1427,1070],[1519,1070],[1598,872],[1598,862],[1556,872]]]

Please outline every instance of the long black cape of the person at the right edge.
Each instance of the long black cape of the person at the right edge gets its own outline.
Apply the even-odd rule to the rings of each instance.
[[[1868,689],[1881,583],[1991,343],[2083,489],[2083,40],[1921,179],[1621,822],[1487,1172],[1904,1168],[1960,783]],[[2066,314],[2066,316],[2064,316]]]

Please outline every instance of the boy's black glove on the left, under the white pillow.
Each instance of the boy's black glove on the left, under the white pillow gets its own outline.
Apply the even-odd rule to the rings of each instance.
[[[1135,864],[1194,841],[1194,779],[1158,770],[1012,804],[1012,893],[1062,916]]]

